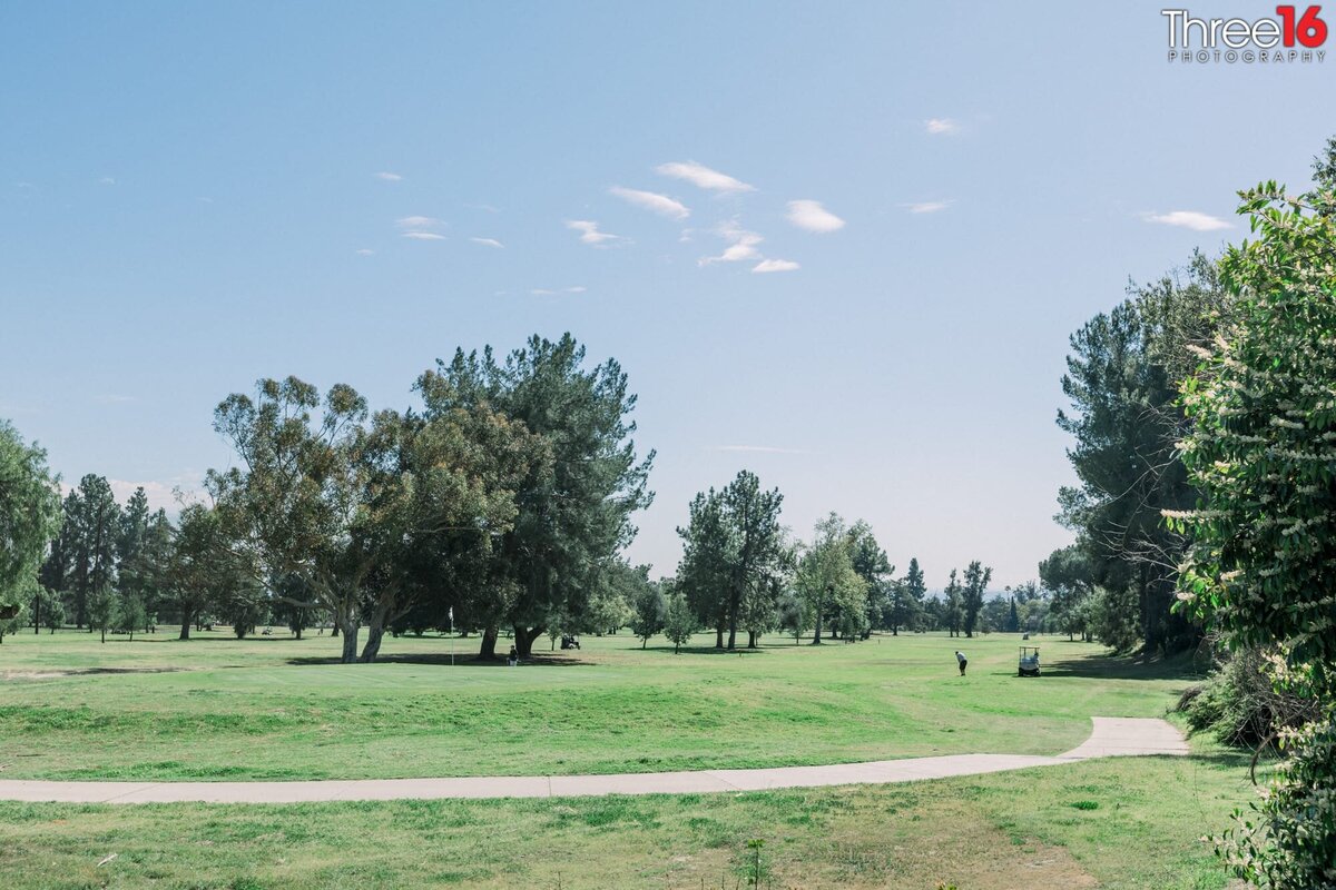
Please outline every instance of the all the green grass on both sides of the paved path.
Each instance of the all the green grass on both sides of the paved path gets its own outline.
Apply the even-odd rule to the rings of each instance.
[[[1014,635],[876,636],[756,652],[587,638],[517,669],[474,640],[386,640],[323,663],[327,636],[0,646],[0,777],[355,778],[778,766],[1055,754],[1092,715],[1161,717],[1190,663]],[[970,655],[959,678],[953,650]],[[502,648],[505,643],[502,643]],[[912,785],[540,801],[289,806],[0,803],[12,887],[1226,886],[1202,834],[1252,798],[1245,758],[1125,758]],[[114,855],[115,854],[115,855]],[[100,863],[100,865],[99,865]]]

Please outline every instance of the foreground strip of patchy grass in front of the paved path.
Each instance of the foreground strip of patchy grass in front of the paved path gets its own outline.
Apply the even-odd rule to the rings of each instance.
[[[962,890],[1226,885],[1197,838],[1246,769],[1090,761],[882,787],[302,806],[0,803],[12,887],[762,887]],[[112,853],[118,857],[98,863]]]

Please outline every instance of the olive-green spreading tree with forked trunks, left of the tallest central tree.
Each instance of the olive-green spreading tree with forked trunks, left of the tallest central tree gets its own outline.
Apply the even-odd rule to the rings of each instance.
[[[322,399],[287,378],[228,396],[214,418],[242,456],[206,479],[232,564],[258,584],[297,576],[311,599],[289,604],[333,616],[345,663],[363,622],[361,659],[375,659],[446,532],[482,552],[513,528],[510,486],[526,466],[510,458],[526,434],[485,404],[371,415],[351,387]]]

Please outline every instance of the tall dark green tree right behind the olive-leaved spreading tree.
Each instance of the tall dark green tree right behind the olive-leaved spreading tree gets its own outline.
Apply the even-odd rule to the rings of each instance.
[[[504,362],[457,351],[418,382],[426,416],[489,408],[536,436],[540,456],[522,462],[514,518],[485,559],[465,559],[474,590],[497,595],[466,603],[485,627],[481,655],[496,650],[497,626],[514,628],[521,658],[554,615],[582,623],[592,579],[636,534],[632,515],[648,507],[653,452],[640,460],[629,419],[636,396],[616,360],[585,367],[569,334],[530,338]]]

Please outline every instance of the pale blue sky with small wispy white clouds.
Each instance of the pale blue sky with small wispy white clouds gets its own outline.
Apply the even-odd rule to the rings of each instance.
[[[405,407],[569,330],[640,395],[657,572],[745,467],[1025,580],[1067,335],[1336,133],[1336,59],[1170,65],[1162,5],[0,5],[0,416],[168,503],[261,376]]]

